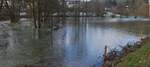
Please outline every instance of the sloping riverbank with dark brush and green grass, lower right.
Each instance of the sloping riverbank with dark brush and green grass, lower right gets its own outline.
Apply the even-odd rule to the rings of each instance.
[[[107,53],[106,46],[103,67],[149,67],[149,48],[149,37],[143,37],[136,43],[128,43],[121,51],[112,49]]]

